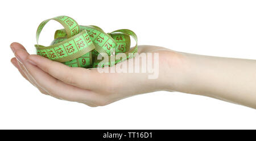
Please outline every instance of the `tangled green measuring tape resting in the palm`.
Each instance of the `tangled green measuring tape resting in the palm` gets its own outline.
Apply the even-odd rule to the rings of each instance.
[[[40,32],[49,20],[56,20],[64,29],[57,30],[51,45],[46,47],[39,45],[38,40]],[[130,36],[136,42],[134,48],[130,48]],[[80,26],[68,16],[57,16],[40,23],[36,31],[36,42],[38,55],[69,67],[82,68],[110,67],[133,57],[138,49],[137,35],[131,30],[116,30],[106,34],[97,26]],[[97,58],[100,53],[106,53],[109,61],[101,63],[102,60]],[[114,56],[117,56],[118,53],[126,56],[115,59]],[[120,56],[122,55],[120,54]]]

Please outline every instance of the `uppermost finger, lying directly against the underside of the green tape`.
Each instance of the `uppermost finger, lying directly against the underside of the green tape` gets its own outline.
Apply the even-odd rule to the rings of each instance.
[[[28,60],[58,80],[83,89],[98,89],[109,78],[108,74],[98,73],[96,69],[72,68],[39,55],[29,55]]]

